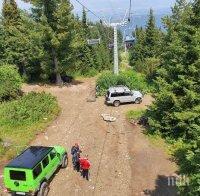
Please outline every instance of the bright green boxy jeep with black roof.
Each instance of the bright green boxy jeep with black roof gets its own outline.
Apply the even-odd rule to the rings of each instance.
[[[63,147],[31,146],[5,166],[4,185],[11,195],[47,195],[49,179],[67,164]]]

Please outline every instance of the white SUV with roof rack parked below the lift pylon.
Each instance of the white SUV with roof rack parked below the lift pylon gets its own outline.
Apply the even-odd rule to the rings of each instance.
[[[143,95],[139,91],[131,91],[126,86],[110,87],[106,94],[106,103],[118,107],[121,103],[142,102]]]

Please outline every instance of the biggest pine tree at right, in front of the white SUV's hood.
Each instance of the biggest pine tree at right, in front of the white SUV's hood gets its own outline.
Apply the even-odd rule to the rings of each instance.
[[[166,46],[158,71],[159,89],[151,107],[150,124],[164,135],[189,140],[200,134],[200,37],[199,28],[194,30],[191,25],[188,10],[179,22],[178,30],[174,28],[173,32],[169,32],[172,42]],[[174,25],[177,27],[176,23]]]

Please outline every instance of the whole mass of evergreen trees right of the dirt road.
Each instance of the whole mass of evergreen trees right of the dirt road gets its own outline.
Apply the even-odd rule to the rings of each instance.
[[[163,24],[156,27],[151,10],[147,26],[136,28],[130,64],[156,87],[149,131],[177,145],[179,173],[190,179],[181,195],[200,195],[200,0],[177,0]]]

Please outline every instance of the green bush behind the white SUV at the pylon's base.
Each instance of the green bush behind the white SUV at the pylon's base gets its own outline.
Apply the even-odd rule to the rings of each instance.
[[[111,86],[125,85],[132,90],[140,90],[147,92],[148,85],[145,77],[134,71],[120,72],[119,75],[114,75],[112,72],[103,72],[97,79],[98,93],[99,95],[105,94]]]

